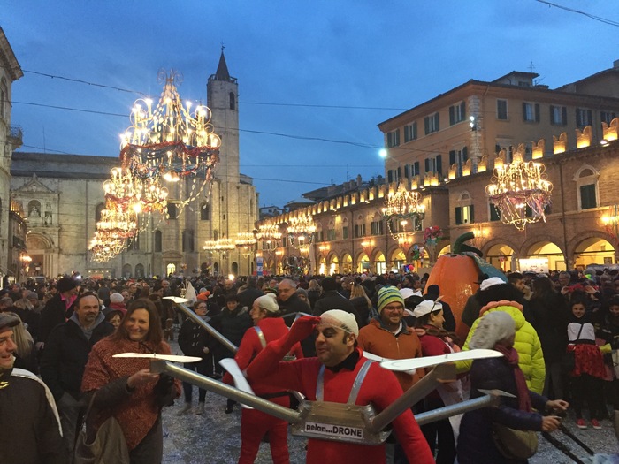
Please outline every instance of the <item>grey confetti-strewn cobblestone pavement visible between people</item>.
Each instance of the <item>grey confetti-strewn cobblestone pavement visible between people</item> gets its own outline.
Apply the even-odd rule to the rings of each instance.
[[[181,354],[178,345],[172,343],[172,353]],[[212,393],[206,394],[206,411],[195,415],[194,411],[178,416],[183,399],[176,400],[172,407],[164,408],[164,463],[165,464],[233,464],[239,458],[241,448],[241,407],[235,406],[232,414],[225,414],[225,398]],[[194,407],[197,406],[197,389],[194,392]],[[566,419],[566,425],[578,438],[596,453],[618,453],[619,447],[609,421],[602,421],[602,430],[579,430],[573,418]],[[579,457],[587,453],[561,432],[554,436]],[[305,462],[305,440],[289,436],[290,462]],[[256,464],[271,463],[269,445],[260,445]],[[530,460],[531,464],[570,463],[565,454],[550,445],[540,436],[539,451]],[[360,463],[362,464],[362,463]]]

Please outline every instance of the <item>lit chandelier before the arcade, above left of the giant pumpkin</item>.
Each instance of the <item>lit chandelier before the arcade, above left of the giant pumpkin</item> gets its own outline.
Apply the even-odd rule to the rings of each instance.
[[[425,217],[421,200],[419,192],[409,190],[404,184],[400,184],[396,192],[387,194],[381,213],[394,240],[402,240],[403,244],[410,233],[421,230],[421,221]]]

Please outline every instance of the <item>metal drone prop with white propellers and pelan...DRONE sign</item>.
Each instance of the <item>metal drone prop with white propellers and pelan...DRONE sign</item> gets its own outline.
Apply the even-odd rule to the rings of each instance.
[[[177,307],[180,308],[187,317],[190,317],[195,323],[203,327],[204,330],[209,331],[213,337],[217,338],[218,341],[230,351],[236,353],[237,347],[234,346],[230,340],[216,331],[209,323],[203,321],[200,316],[197,316],[184,304],[187,300],[177,297],[167,298],[176,303]],[[131,354],[123,355],[129,356]],[[307,399],[302,399],[299,410],[294,411],[287,407],[271,403],[271,401],[267,399],[257,397],[252,394],[248,384],[243,387],[248,390],[248,392],[244,392],[239,388],[223,384],[210,377],[201,376],[193,370],[184,369],[170,363],[170,361],[187,362],[184,361],[187,356],[180,356],[178,360],[175,359],[175,356],[170,355],[149,356],[153,358],[150,363],[151,372],[168,374],[189,384],[197,385],[210,392],[215,392],[226,398],[233,399],[246,407],[255,407],[264,413],[290,422],[292,424],[293,435],[363,445],[380,445],[386,440],[386,437],[388,437],[390,433],[384,430],[390,422],[393,422],[396,417],[416,404],[420,399],[423,399],[439,384],[450,382],[455,379],[455,361],[499,357],[501,355],[502,354],[493,350],[469,350],[440,356],[381,361],[380,365],[384,369],[397,371],[410,371],[412,369],[421,369],[430,366],[435,367],[417,382],[415,386],[410,388],[407,392],[404,392],[399,399],[396,399],[394,403],[378,414],[376,414],[371,405],[356,406],[332,403],[329,401],[309,401]],[[370,356],[370,358],[373,360],[380,360],[380,358],[376,356]],[[235,363],[233,364],[235,365]],[[241,370],[238,369],[238,366],[236,366],[236,369],[230,370],[231,374],[235,373],[237,378],[241,375]],[[235,370],[236,372],[234,372]],[[446,419],[452,415],[460,415],[481,407],[496,406],[500,401],[500,396],[513,396],[509,393],[500,391],[484,391],[483,393],[485,393],[485,396],[477,399],[470,399],[452,406],[441,407],[424,414],[416,415],[416,422],[423,425],[425,423]],[[333,431],[337,433],[333,433]]]

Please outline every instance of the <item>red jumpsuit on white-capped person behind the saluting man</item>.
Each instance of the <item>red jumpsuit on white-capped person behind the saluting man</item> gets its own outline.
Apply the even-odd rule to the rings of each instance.
[[[266,343],[277,340],[288,332],[287,325],[281,317],[264,318],[258,323],[258,328],[262,331]],[[249,362],[262,350],[263,345],[258,331],[256,331],[256,328],[248,329],[241,340],[239,351],[234,356],[234,360],[241,370],[246,369]],[[297,358],[303,357],[301,346],[298,343],[293,347],[292,354],[295,354]],[[230,374],[225,374],[224,382],[226,384],[233,383]],[[251,382],[251,388],[257,396],[266,397],[266,399],[280,406],[290,407],[290,399],[287,395],[270,398],[272,393],[285,393],[284,389],[273,385],[270,380]],[[241,456],[239,457],[239,464],[252,464],[256,460],[260,441],[267,432],[269,432],[273,464],[288,464],[290,462],[287,443],[288,422],[257,409],[243,407],[241,410]]]

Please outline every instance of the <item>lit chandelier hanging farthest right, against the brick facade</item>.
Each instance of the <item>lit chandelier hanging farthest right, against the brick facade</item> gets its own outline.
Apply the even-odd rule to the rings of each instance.
[[[494,163],[492,184],[485,186],[503,224],[512,224],[523,231],[526,224],[543,219],[550,205],[553,184],[547,180],[546,166],[533,161],[523,161],[522,145],[516,149],[510,164],[501,158]]]

